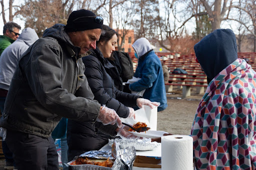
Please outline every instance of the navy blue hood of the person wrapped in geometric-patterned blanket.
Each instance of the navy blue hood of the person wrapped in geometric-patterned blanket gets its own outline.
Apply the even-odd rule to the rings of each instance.
[[[231,29],[216,29],[194,45],[194,52],[209,83],[237,59],[235,35]]]

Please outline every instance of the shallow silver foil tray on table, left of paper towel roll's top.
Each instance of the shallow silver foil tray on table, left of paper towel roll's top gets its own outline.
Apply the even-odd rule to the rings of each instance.
[[[137,151],[151,151],[155,147],[159,146],[157,142],[151,142],[151,139],[111,139],[108,140],[108,145],[111,147],[114,141],[119,144],[119,149],[124,149],[129,146],[133,146]]]

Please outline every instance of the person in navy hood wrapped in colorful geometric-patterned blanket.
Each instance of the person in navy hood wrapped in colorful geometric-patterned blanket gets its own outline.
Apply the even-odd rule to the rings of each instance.
[[[191,129],[197,170],[255,170],[256,72],[237,59],[230,29],[213,31],[194,50],[205,74],[214,76]]]

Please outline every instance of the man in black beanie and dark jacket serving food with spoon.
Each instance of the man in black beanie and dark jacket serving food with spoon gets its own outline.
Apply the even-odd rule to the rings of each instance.
[[[20,58],[0,119],[18,170],[59,170],[50,136],[62,117],[130,137],[115,111],[93,100],[84,76],[81,57],[95,49],[102,23],[89,10],[73,11],[66,26],[46,29]]]

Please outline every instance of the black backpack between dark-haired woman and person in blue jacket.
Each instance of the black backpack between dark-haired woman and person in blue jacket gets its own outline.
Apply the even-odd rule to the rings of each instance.
[[[118,69],[122,82],[132,79],[133,65],[131,58],[127,52],[114,51],[114,58],[118,58],[120,64],[120,70]]]

